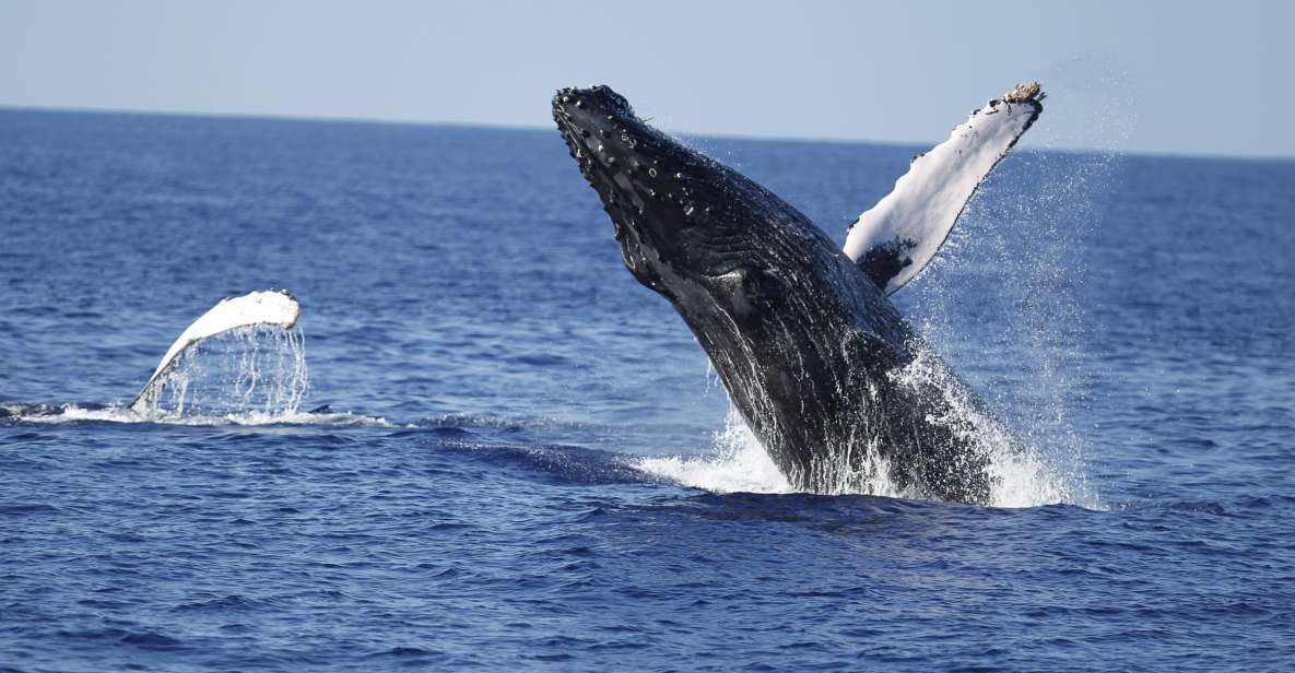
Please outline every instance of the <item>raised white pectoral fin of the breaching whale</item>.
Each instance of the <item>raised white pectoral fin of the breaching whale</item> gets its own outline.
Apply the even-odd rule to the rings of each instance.
[[[953,128],[949,140],[913,158],[895,190],[850,225],[846,255],[886,294],[894,294],[935,256],[975,194],[1042,111],[1039,83],[992,100]]]

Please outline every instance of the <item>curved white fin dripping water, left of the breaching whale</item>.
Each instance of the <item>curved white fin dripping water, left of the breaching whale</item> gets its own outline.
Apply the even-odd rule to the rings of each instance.
[[[131,408],[136,409],[140,406],[146,400],[145,395],[153,384],[176,362],[180,353],[198,342],[229,330],[253,325],[276,325],[290,330],[293,325],[297,325],[300,312],[302,308],[297,303],[297,298],[286,290],[249,292],[242,296],[231,296],[220,300],[219,304],[211,307],[202,317],[193,321],[180,334],[180,338],[171,344],[171,348],[167,348],[166,355],[162,356],[162,361],[158,362],[157,369],[153,370],[153,375],[149,377],[149,382],[135,396]]]

